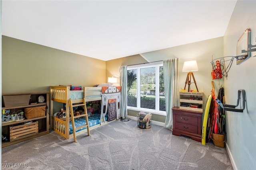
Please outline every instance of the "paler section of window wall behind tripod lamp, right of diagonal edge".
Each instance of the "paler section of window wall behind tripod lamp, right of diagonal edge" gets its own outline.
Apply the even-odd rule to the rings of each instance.
[[[212,64],[210,64],[210,61],[212,58],[217,59],[223,57],[223,37],[152,51],[149,53],[143,53],[142,55],[151,62],[175,57],[179,58],[179,89],[184,88],[186,76],[188,74],[188,72],[182,72],[184,61],[196,60],[198,64],[198,71],[194,72],[194,77],[198,90],[200,92],[204,92],[205,99],[211,94],[212,90]],[[223,82],[223,79],[214,80],[214,86],[216,87],[217,92],[218,84],[222,85]],[[196,90],[196,86],[192,84],[191,89]],[[204,105],[205,104],[206,100],[204,100]]]

